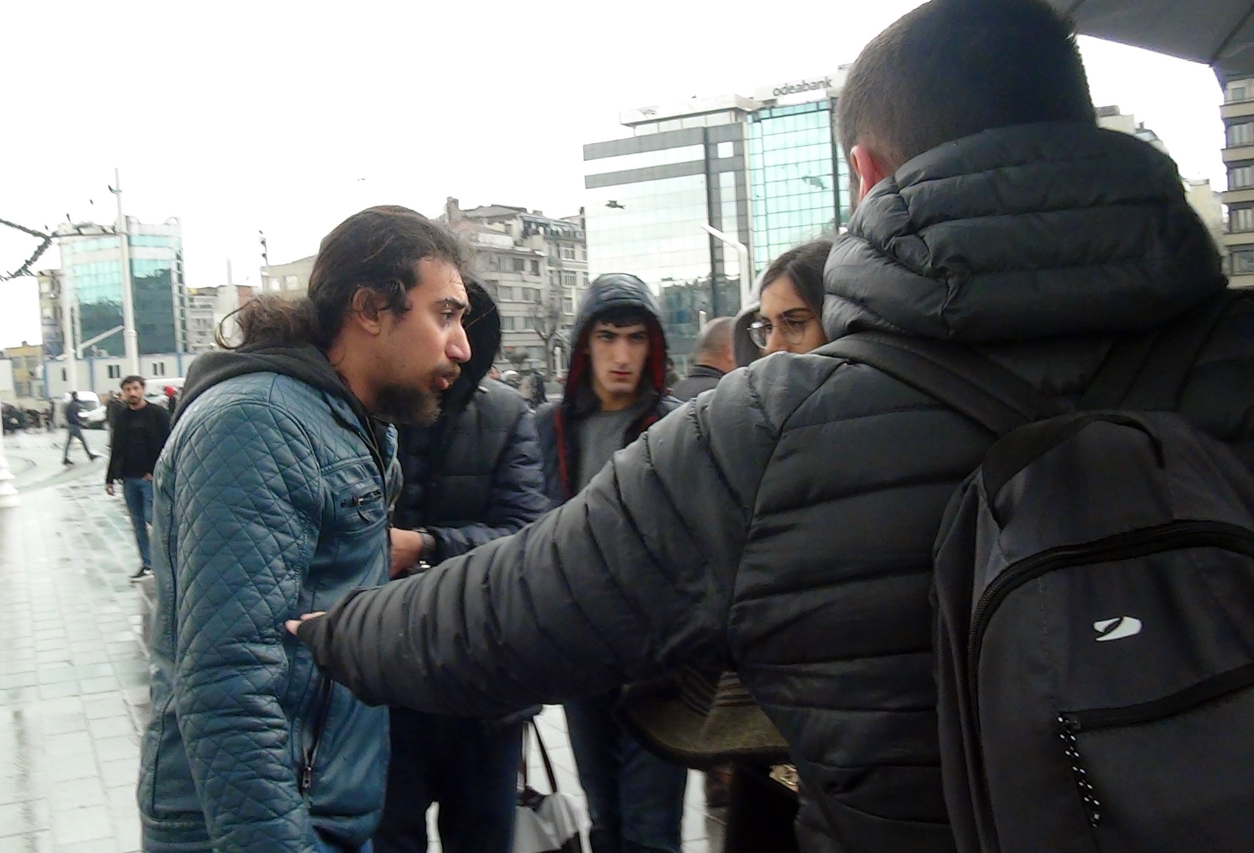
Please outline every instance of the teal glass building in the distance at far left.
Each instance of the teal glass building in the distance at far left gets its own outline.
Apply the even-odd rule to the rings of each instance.
[[[179,323],[186,301],[182,274],[182,234],[177,219],[150,225],[130,219],[130,291],[139,353],[186,351]],[[115,235],[79,237],[61,229],[58,235],[61,269],[73,279],[78,316],[75,338],[93,341],[85,356],[120,356],[122,248]],[[117,329],[110,332],[110,329]],[[58,354],[58,353],[53,353]]]

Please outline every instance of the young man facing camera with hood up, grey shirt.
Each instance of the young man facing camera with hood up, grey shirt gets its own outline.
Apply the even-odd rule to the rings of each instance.
[[[614,451],[678,406],[663,395],[666,336],[657,303],[635,276],[601,276],[576,318],[574,358],[558,403],[535,412],[554,506],[579,492]],[[571,747],[588,795],[593,853],[678,853],[687,772],[636,743],[614,719],[618,690],[566,704]]]

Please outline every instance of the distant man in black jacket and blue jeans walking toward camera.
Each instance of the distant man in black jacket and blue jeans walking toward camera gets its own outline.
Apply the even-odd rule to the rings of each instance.
[[[139,546],[139,571],[130,577],[138,580],[153,570],[148,550],[148,525],[153,522],[153,471],[169,437],[169,415],[144,400],[142,376],[128,376],[122,381],[122,401],[124,406],[113,422],[104,491],[113,495],[113,483],[122,480],[122,494],[127,499],[127,512],[130,514],[135,545]]]

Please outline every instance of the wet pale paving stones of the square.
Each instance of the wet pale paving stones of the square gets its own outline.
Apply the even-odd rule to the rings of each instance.
[[[139,556],[122,500],[97,475],[0,510],[3,853],[140,849],[134,787],[148,674],[140,591],[128,577]],[[583,804],[562,709],[545,708],[539,723],[561,789]],[[534,749],[529,764],[535,784]],[[717,853],[721,829],[692,773],[683,853]]]

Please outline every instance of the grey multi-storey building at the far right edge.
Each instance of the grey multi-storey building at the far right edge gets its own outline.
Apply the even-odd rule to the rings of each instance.
[[[1224,263],[1233,287],[1254,287],[1254,78],[1229,80],[1224,86],[1224,165],[1228,208],[1221,239]]]

